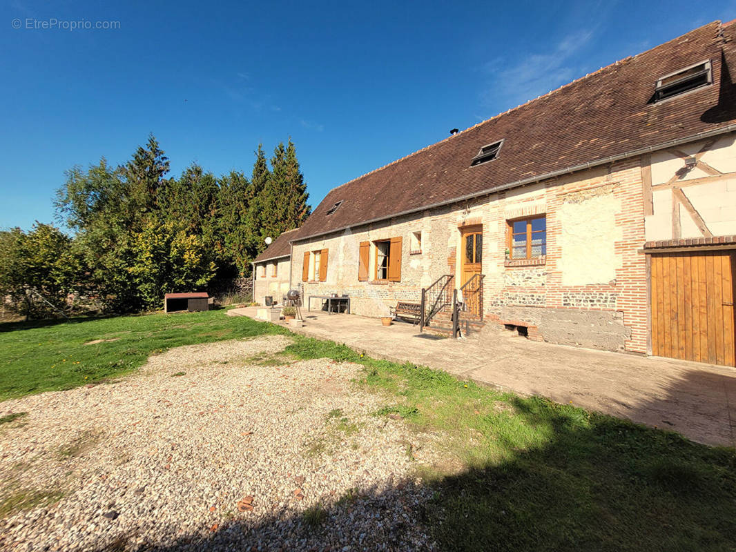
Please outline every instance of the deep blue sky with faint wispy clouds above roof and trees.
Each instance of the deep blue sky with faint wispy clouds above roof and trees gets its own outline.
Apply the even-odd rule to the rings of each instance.
[[[0,10],[0,227],[51,222],[63,172],[153,132],[173,174],[297,146],[336,185],[701,24],[736,0],[54,1]],[[13,28],[13,19],[21,29]],[[27,20],[119,29],[26,29]],[[652,77],[656,77],[653,75]]]

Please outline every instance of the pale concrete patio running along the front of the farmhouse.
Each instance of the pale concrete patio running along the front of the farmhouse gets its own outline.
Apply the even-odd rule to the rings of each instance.
[[[230,316],[255,318],[257,308]],[[439,339],[417,326],[350,314],[304,312],[297,333],[344,343],[374,358],[443,369],[478,383],[601,411],[694,441],[736,447],[736,370],[668,358],[531,342],[484,329]],[[284,322],[280,324],[285,325]]]

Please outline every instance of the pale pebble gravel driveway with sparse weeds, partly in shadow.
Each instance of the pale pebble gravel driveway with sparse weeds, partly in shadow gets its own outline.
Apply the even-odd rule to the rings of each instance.
[[[180,347],[118,383],[0,403],[28,413],[0,426],[0,548],[434,548],[412,478],[437,437],[375,416],[386,399],[356,389],[356,364],[273,361],[290,342]]]

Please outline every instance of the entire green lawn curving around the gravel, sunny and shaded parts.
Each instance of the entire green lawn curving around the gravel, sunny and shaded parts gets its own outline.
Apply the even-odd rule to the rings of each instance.
[[[223,311],[4,325],[0,397],[102,381],[182,344],[285,332]],[[293,358],[363,364],[358,385],[386,400],[377,416],[445,435],[446,463],[419,471],[442,550],[736,551],[733,449],[294,339]]]

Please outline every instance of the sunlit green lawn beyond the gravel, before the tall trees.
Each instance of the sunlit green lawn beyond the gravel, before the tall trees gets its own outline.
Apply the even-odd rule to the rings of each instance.
[[[0,400],[109,381],[181,345],[277,333],[289,332],[224,311],[7,322],[0,324]]]

